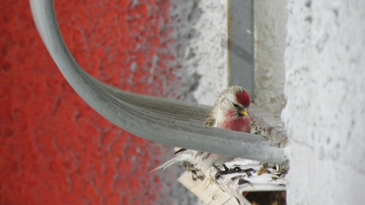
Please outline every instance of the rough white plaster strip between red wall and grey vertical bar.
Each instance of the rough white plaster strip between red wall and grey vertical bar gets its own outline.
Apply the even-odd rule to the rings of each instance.
[[[183,97],[213,105],[228,86],[227,1],[172,0],[172,5]]]

